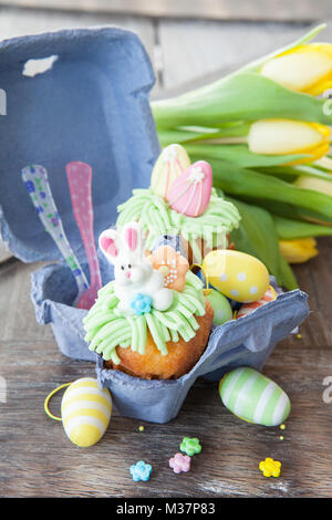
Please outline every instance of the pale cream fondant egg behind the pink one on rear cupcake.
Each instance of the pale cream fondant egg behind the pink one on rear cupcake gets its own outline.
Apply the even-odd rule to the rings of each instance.
[[[190,166],[187,152],[180,145],[166,146],[159,155],[152,173],[151,187],[165,200],[170,186]]]

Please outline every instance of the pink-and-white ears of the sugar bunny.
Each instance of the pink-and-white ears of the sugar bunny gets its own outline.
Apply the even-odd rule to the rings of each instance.
[[[123,256],[143,254],[142,228],[138,222],[128,222],[120,231],[106,229],[100,236],[100,248],[112,263]]]

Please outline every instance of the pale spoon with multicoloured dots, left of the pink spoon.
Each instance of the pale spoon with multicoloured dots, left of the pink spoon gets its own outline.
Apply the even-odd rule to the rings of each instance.
[[[48,231],[63,254],[77,284],[77,297],[75,302],[80,300],[82,294],[87,290],[89,283],[86,277],[72,250],[70,242],[65,236],[62,220],[60,218],[53,195],[49,185],[48,171],[43,166],[31,165],[25,166],[21,170],[22,180],[30,195],[38,216],[42,221],[45,231]],[[75,304],[74,302],[74,304]]]

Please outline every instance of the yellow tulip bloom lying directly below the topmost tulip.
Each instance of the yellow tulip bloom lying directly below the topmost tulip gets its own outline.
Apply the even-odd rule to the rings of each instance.
[[[250,126],[250,152],[264,155],[308,154],[300,163],[312,163],[329,153],[329,126],[292,119],[260,119]],[[294,164],[294,163],[293,163]]]

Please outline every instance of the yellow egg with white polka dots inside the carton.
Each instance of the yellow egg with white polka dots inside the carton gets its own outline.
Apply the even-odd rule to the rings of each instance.
[[[266,266],[250,254],[230,249],[210,251],[203,260],[209,282],[237,302],[255,302],[267,292],[270,278]]]

